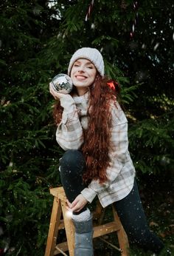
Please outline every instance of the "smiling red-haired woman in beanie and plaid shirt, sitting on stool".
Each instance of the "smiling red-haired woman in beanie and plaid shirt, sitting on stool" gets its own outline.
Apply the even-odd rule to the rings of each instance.
[[[150,232],[128,152],[128,121],[117,101],[119,87],[104,76],[101,53],[77,50],[69,62],[74,84],[67,95],[52,90],[56,140],[66,151],[60,178],[75,226],[77,256],[92,256],[92,216],[87,208],[96,195],[103,207],[114,203],[130,243],[159,254],[161,240]]]

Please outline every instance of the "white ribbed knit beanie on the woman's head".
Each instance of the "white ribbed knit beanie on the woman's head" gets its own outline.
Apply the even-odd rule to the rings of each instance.
[[[99,50],[95,48],[90,48],[90,47],[80,48],[72,55],[72,58],[69,61],[68,75],[70,75],[72,71],[72,65],[79,58],[86,58],[89,61],[91,61],[96,67],[97,71],[100,73],[100,75],[102,76],[104,75],[105,67],[104,67],[102,55]]]

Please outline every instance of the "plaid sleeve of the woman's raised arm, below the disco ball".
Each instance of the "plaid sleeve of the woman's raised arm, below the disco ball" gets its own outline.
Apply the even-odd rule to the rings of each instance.
[[[60,98],[63,107],[62,120],[56,130],[56,141],[62,149],[80,149],[83,144],[83,128],[78,110],[71,95]]]

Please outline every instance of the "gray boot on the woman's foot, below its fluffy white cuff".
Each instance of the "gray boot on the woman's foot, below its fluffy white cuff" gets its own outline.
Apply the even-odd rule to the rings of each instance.
[[[93,225],[92,216],[89,220],[73,220],[75,227],[74,256],[93,256]]]

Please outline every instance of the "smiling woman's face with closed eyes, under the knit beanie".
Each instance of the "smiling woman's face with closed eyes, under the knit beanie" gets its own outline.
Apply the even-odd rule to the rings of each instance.
[[[86,58],[79,58],[72,66],[71,78],[72,83],[77,87],[79,95],[88,90],[88,87],[94,83],[97,75],[97,70],[91,61]],[[80,93],[82,92],[82,93]]]

